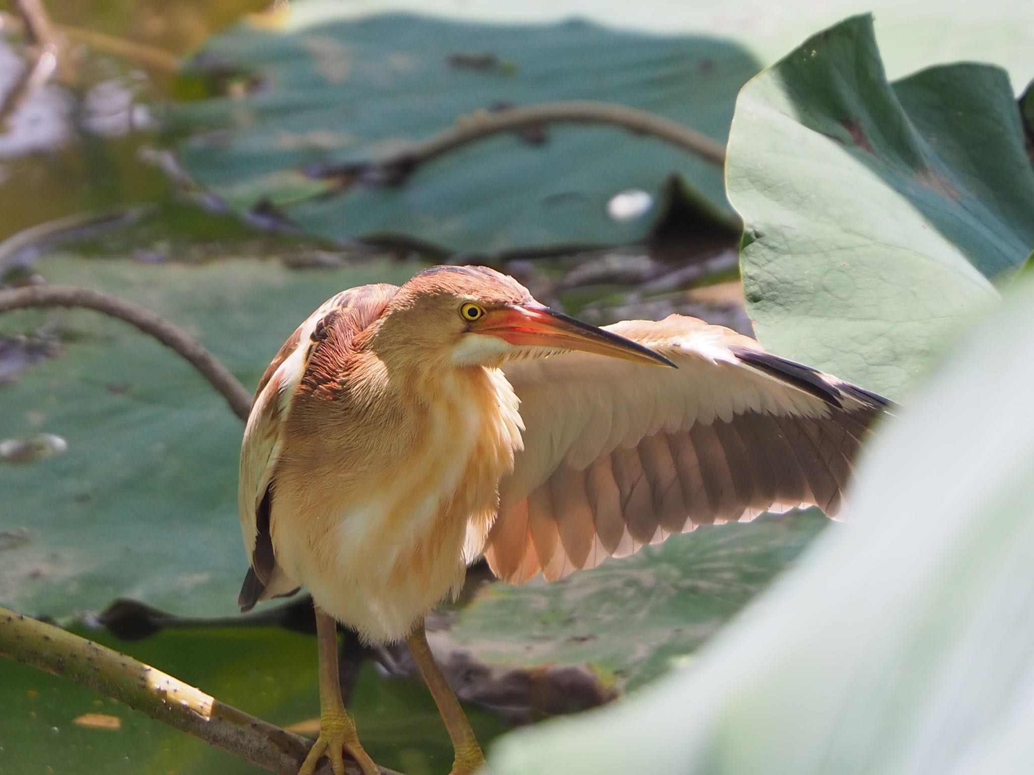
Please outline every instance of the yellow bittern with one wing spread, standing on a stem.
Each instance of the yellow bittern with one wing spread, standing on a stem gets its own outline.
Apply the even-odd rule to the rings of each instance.
[[[343,752],[377,772],[341,703],[335,620],[405,640],[453,773],[472,773],[481,749],[424,631],[469,563],[554,580],[700,524],[833,515],[885,404],[696,318],[588,326],[483,267],[333,297],[266,370],[241,451],[241,607],[302,585],[316,607],[321,733],[300,772],[326,755],[343,773]]]

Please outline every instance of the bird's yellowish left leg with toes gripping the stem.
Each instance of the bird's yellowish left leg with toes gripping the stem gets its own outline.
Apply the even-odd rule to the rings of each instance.
[[[324,756],[330,760],[334,775],[344,775],[342,751],[356,760],[363,775],[379,775],[381,769],[359,744],[356,724],[341,702],[337,675],[337,623],[334,617],[316,608],[316,642],[320,647],[320,737],[309,749],[298,775],[312,775]]]

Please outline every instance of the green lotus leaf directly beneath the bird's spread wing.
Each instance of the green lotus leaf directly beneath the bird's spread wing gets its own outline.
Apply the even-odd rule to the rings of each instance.
[[[706,641],[826,522],[811,509],[701,527],[553,584],[493,584],[458,612],[450,639],[481,659],[587,664],[604,684],[635,688]]]

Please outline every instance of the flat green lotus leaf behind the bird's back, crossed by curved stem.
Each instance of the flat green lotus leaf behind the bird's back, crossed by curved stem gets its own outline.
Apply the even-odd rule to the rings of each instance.
[[[328,297],[412,274],[388,262],[292,271],[247,260],[55,259],[38,271],[164,315],[249,389]],[[0,385],[0,439],[51,433],[68,450],[0,461],[0,605],[64,616],[129,597],[181,615],[233,613],[247,567],[237,524],[243,424],[178,355],[121,321],[82,310],[9,313],[0,334],[44,324],[62,351]]]

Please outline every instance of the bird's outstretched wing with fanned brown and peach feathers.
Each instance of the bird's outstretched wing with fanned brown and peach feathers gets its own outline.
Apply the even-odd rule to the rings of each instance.
[[[607,329],[678,368],[581,352],[505,367],[525,431],[485,549],[496,576],[559,579],[766,510],[838,513],[885,399],[693,317]]]

